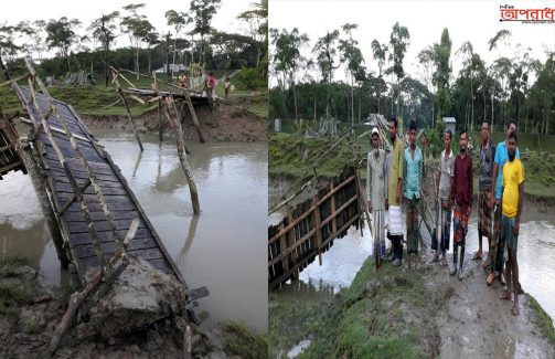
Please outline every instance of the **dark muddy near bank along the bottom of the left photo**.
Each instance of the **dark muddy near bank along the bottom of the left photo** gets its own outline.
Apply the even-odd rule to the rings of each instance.
[[[0,261],[0,358],[45,358],[51,337],[67,308],[73,289],[46,286],[22,260]],[[194,358],[265,358],[265,336],[244,325],[192,327]],[[64,336],[54,358],[181,358],[183,331],[168,318],[132,332],[105,338],[82,323]]]

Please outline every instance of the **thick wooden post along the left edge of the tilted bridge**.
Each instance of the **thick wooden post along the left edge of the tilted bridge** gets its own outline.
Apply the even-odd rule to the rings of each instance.
[[[70,258],[64,250],[64,239],[60,230],[57,218],[54,214],[49,194],[46,193],[46,187],[44,186],[45,175],[36,163],[31,145],[25,139],[21,139],[19,141],[18,152],[23,159],[23,162],[29,171],[29,176],[31,177],[31,183],[33,184],[36,197],[39,198],[39,204],[41,205],[42,213],[46,220],[52,242],[54,242],[54,246],[56,247],[57,257],[60,262],[62,262],[62,265],[67,267]]]

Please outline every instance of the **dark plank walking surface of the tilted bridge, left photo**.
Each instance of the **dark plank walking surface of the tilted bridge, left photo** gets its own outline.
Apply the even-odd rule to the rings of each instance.
[[[40,116],[44,116],[49,112],[51,98],[36,93],[36,104],[40,107],[36,108],[29,88],[17,86],[15,92],[31,122],[35,125],[40,124]],[[153,267],[173,273],[184,284],[180,271],[146,217],[145,211],[127,184],[119,168],[97,142],[75,109],[65,103],[56,99],[53,101],[97,179],[97,183],[104,193],[108,210],[111,212],[121,239],[126,236],[132,220],[136,218],[139,219],[139,226],[135,239],[130,242],[126,253],[128,255],[141,256]],[[88,181],[86,169],[83,167],[56,116],[53,114],[50,115],[46,123],[50,125],[54,140],[63,152],[66,163],[77,181],[77,186],[82,188]],[[68,246],[71,258],[75,264],[79,278],[82,283],[85,283],[84,274],[86,268],[88,266],[98,266],[98,260],[89,236],[85,214],[81,210],[79,201],[74,200],[68,209],[60,215],[64,205],[72,200],[74,190],[44,130],[40,130],[35,144],[39,147],[40,162],[43,165],[46,173],[44,186],[51,198],[53,210],[56,217],[58,217],[62,236],[65,245]],[[93,226],[102,241],[104,255],[108,258],[116,251],[116,243],[109,222],[106,220],[102,204],[92,186],[86,188],[83,197],[90,212]]]

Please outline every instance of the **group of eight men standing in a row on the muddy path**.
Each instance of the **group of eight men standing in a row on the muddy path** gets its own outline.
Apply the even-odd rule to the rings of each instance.
[[[380,133],[372,130],[372,149],[367,155],[366,199],[372,213],[372,236],[374,251],[378,258],[386,257],[385,237],[392,242],[387,258],[393,265],[403,265],[404,230],[402,204],[406,212],[407,266],[414,257],[418,267],[418,208],[423,184],[424,156],[416,146],[416,123],[408,129],[408,147],[404,149],[397,136],[398,122],[389,122],[392,150],[385,154],[380,148]],[[478,243],[479,249],[472,260],[482,260],[482,237],[489,243],[488,257],[483,268],[489,271],[485,279],[491,285],[495,278],[504,285],[501,299],[514,296],[512,314],[519,315],[519,264],[516,246],[524,193],[524,168],[517,149],[516,123],[506,126],[505,139],[497,146],[490,139],[488,123],[482,124],[480,163],[478,173]],[[468,133],[459,131],[459,154],[451,149],[453,134],[444,133],[444,150],[437,167],[435,181],[436,236],[431,239],[434,256],[431,262],[447,266],[446,253],[449,250],[451,218],[453,229],[453,265],[451,276],[458,274],[463,279],[463,261],[468,222],[472,213],[473,166],[468,152]],[[385,211],[388,223],[385,224]],[[493,223],[492,223],[493,212]],[[385,230],[387,229],[387,235]],[[460,253],[459,253],[460,252]],[[504,267],[504,273],[503,273]],[[512,285],[511,285],[512,284]]]

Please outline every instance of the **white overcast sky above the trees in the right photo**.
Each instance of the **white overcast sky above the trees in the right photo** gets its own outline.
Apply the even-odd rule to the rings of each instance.
[[[359,41],[364,55],[366,68],[377,73],[377,64],[372,57],[371,43],[374,39],[388,43],[392,28],[396,21],[408,29],[410,44],[404,60],[404,68],[413,77],[421,78],[417,66],[417,54],[435,42],[439,42],[441,31],[448,28],[451,38],[451,61],[453,71],[460,68],[461,57],[455,53],[460,45],[470,41],[482,60],[490,64],[499,55],[513,57],[515,53],[525,52],[545,61],[545,49],[554,51],[555,23],[500,22],[500,4],[511,4],[516,9],[555,8],[553,0],[527,1],[490,1],[490,0],[433,0],[433,1],[337,1],[337,0],[270,0],[269,27],[275,29],[298,28],[310,38],[310,45],[303,49],[305,56],[311,56],[311,50],[318,38],[327,31],[340,29],[344,23],[359,24],[353,36]],[[508,45],[488,51],[488,41],[502,29],[511,31]],[[517,50],[522,44],[522,50]],[[270,50],[271,51],[271,50]],[[344,70],[334,73],[337,80],[344,80]],[[270,80],[270,86],[276,78]]]

